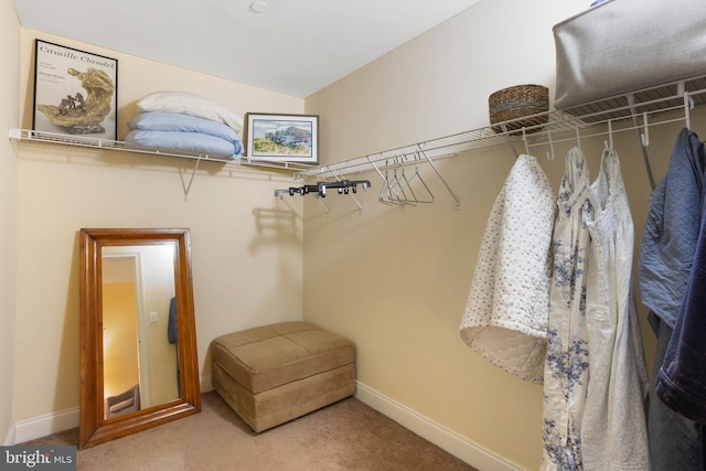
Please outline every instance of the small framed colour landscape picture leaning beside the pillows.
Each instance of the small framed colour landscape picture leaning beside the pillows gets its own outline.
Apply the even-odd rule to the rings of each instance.
[[[319,116],[248,113],[245,154],[254,160],[319,162]]]

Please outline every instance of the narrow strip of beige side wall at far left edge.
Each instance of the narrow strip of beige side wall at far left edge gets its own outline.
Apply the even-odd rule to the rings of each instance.
[[[0,129],[18,121],[20,73],[10,64],[20,62],[20,28],[12,0],[0,0]],[[14,376],[17,160],[12,142],[0,139],[0,443],[14,441],[12,382]]]

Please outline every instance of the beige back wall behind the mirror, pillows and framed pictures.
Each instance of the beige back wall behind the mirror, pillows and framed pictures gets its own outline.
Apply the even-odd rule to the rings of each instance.
[[[157,90],[196,93],[237,113],[303,111],[300,98],[20,28],[21,41],[15,41],[7,63],[18,64],[21,81],[13,81],[3,94],[21,97],[21,122],[11,126],[31,126],[35,38],[118,60],[119,137],[127,132],[136,101]],[[13,104],[17,107],[17,100]],[[301,319],[302,204],[274,197],[275,189],[291,183],[290,174],[202,162],[185,202],[183,186],[194,168],[192,160],[13,146],[17,151],[6,159],[17,164],[19,182],[15,421],[78,406],[82,227],[191,229],[199,365],[206,379],[208,343],[215,336]],[[260,215],[279,210],[293,214],[293,224],[286,217],[288,225],[263,227]],[[2,231],[4,236],[4,223]]]

